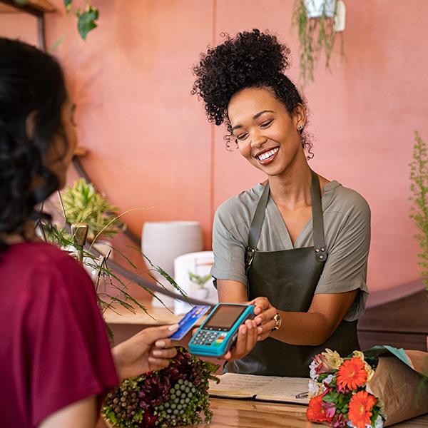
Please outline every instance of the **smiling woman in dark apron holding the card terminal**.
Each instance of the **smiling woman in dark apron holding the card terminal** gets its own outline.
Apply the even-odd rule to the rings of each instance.
[[[285,76],[290,51],[258,30],[228,37],[203,54],[193,93],[208,120],[225,123],[227,146],[267,180],[225,201],[215,214],[212,270],[223,302],[257,306],[257,344],[241,328],[226,355],[231,372],[308,376],[329,347],[358,349],[367,298],[370,208],[354,190],[307,163],[307,108]]]

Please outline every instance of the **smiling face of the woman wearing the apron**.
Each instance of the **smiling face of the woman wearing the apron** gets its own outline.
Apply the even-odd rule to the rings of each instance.
[[[240,154],[267,175],[281,175],[297,158],[305,158],[297,131],[297,126],[305,126],[305,109],[299,104],[290,116],[270,88],[235,93],[228,118]]]

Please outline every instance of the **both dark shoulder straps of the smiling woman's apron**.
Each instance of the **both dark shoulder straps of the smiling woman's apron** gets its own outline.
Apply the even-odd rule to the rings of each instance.
[[[318,175],[311,170],[312,185],[310,187],[310,197],[312,200],[312,230],[315,249],[315,260],[324,263],[327,260],[327,252],[325,250],[324,240],[324,221],[322,218],[322,204],[321,204],[321,189],[320,180]],[[265,220],[265,209],[267,200],[269,200],[269,182],[265,185],[260,200],[258,201],[257,208],[253,221],[250,225],[250,233],[248,235],[248,250],[254,252],[257,249],[258,240],[262,231],[263,220]]]

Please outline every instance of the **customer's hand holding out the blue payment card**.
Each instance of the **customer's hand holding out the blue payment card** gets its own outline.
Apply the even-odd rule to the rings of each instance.
[[[138,376],[144,372],[168,367],[177,350],[168,339],[176,325],[148,327],[111,350],[119,378]]]

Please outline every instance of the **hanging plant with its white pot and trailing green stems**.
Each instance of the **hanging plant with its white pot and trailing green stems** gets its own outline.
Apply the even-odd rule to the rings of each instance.
[[[325,67],[330,69],[330,56],[337,31],[345,28],[345,4],[342,0],[295,0],[292,23],[297,26],[300,42],[300,78],[314,80],[314,68],[325,53]],[[344,55],[341,40],[340,54]]]

